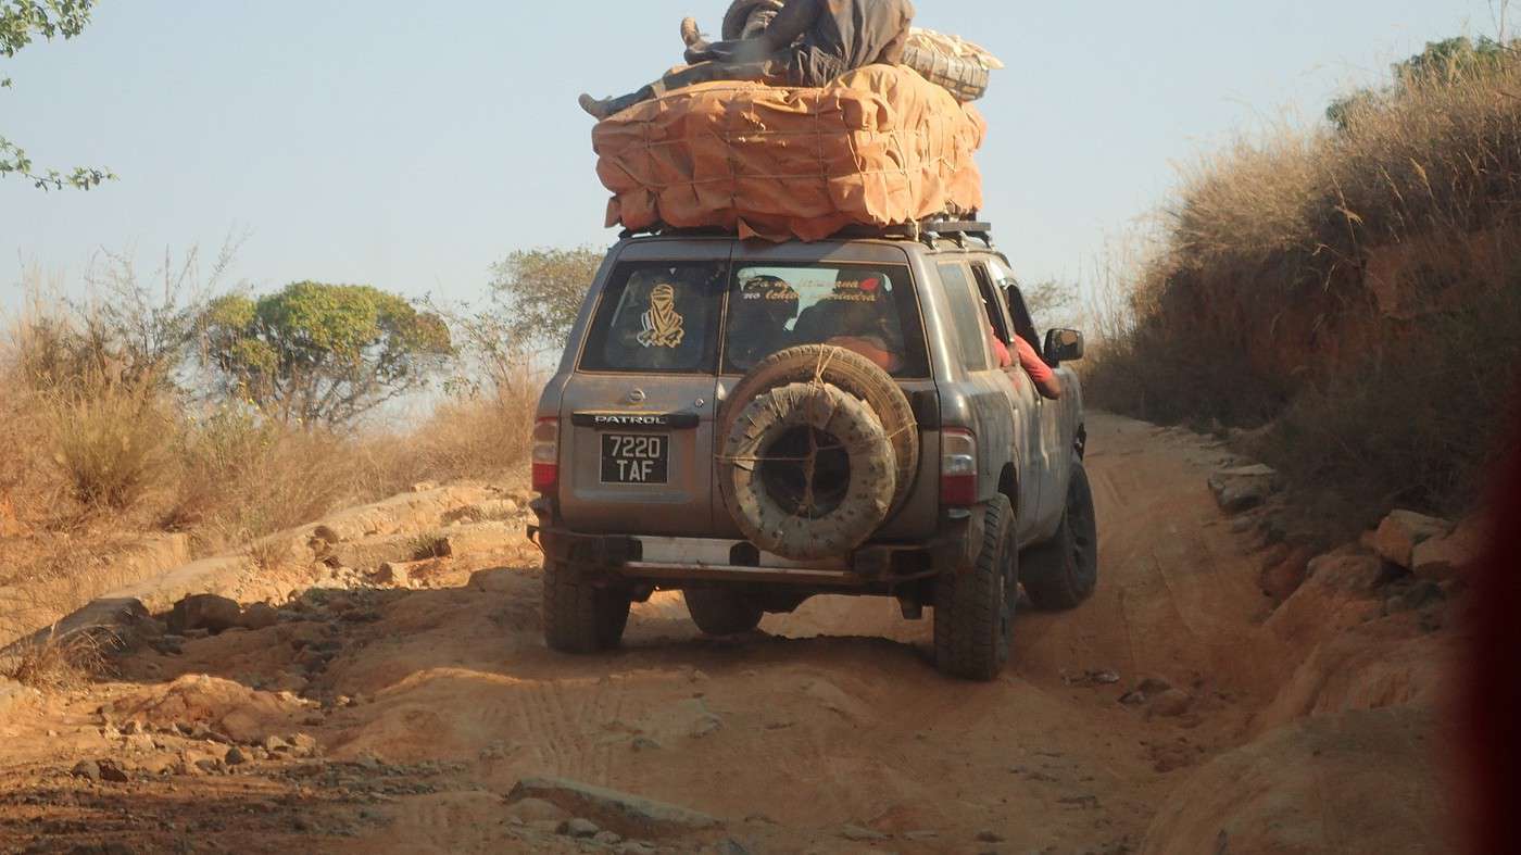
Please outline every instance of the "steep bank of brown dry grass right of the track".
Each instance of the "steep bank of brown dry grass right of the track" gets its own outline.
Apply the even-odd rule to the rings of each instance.
[[[1267,424],[1348,526],[1475,501],[1521,365],[1521,59],[1202,158],[1161,231],[1101,289],[1097,405]]]

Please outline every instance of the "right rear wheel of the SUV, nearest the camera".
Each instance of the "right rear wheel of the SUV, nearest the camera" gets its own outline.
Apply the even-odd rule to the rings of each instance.
[[[976,560],[955,575],[935,580],[935,668],[963,680],[993,680],[1008,662],[1019,551],[1015,514],[998,496],[983,516]]]

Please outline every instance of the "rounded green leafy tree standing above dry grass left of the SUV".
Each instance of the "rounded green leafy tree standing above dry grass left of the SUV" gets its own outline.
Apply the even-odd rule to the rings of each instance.
[[[421,388],[453,354],[438,315],[367,284],[219,297],[201,329],[224,391],[306,426],[344,424]]]

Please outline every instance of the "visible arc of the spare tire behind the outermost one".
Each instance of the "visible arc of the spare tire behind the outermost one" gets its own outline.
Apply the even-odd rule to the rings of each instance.
[[[779,350],[762,359],[745,374],[724,402],[719,414],[719,437],[729,437],[739,412],[768,389],[788,383],[821,379],[865,402],[887,432],[893,447],[893,501],[888,516],[897,513],[908,499],[908,490],[919,475],[919,423],[908,396],[875,362],[859,353],[826,344],[808,344]]]

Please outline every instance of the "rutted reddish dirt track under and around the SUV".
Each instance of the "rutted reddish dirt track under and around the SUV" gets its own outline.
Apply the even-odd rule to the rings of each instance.
[[[310,592],[310,619],[146,650],[119,680],[0,710],[0,850],[654,850],[514,811],[503,796],[531,776],[724,820],[659,850],[1139,850],[1290,668],[1262,628],[1252,536],[1205,485],[1224,452],[1118,417],[1089,432],[1098,593],[1025,610],[992,685],[937,675],[929,621],[879,599],[821,598],[712,640],[657,595],[624,650],[552,654],[537,555],[516,543],[440,564],[423,590]],[[303,697],[275,691],[292,672]],[[213,680],[176,682],[196,674]],[[1188,697],[1119,703],[1145,677]],[[257,747],[227,767],[198,721],[245,744],[310,735],[318,756]],[[70,773],[111,758],[126,782]]]

